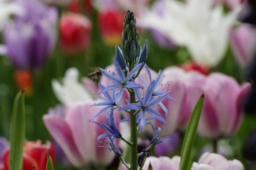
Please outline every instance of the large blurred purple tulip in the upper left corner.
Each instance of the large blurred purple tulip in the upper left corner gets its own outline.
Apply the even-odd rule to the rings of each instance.
[[[18,1],[25,15],[15,16],[3,30],[7,54],[16,68],[41,67],[55,44],[57,10],[36,0]]]

